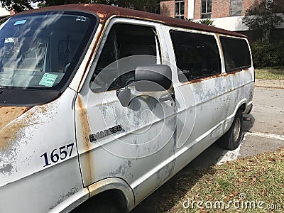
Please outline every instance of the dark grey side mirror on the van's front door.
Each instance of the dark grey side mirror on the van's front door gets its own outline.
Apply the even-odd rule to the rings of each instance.
[[[136,67],[134,85],[138,92],[168,90],[172,85],[172,70],[168,65]]]

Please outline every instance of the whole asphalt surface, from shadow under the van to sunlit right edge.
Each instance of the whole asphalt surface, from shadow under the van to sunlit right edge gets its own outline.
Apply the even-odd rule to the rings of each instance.
[[[167,196],[168,188],[177,187],[179,177],[184,178],[186,175],[192,174],[194,172],[192,168],[204,168],[209,165],[224,163],[227,160],[245,158],[284,148],[284,89],[256,87],[253,96],[253,110],[251,114],[244,117],[251,119],[251,121],[244,121],[244,138],[239,148],[235,151],[225,151],[213,144],[174,178],[156,190],[141,204],[138,204],[131,213],[167,212],[177,202],[177,200]],[[168,202],[167,207],[160,209],[163,202]]]

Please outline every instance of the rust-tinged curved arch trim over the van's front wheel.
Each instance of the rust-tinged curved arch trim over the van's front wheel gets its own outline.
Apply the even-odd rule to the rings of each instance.
[[[87,188],[89,190],[90,198],[101,192],[107,192],[108,190],[119,190],[124,195],[127,209],[131,210],[134,207],[135,197],[133,190],[127,182],[121,178],[106,178],[104,180],[99,180],[98,182],[89,185]]]

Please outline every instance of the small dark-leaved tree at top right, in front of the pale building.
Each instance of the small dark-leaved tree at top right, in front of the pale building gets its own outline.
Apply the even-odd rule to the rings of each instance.
[[[262,41],[268,41],[271,37],[271,30],[284,22],[282,14],[282,6],[271,0],[261,0],[246,10],[242,22],[249,27],[250,31],[261,35]]]

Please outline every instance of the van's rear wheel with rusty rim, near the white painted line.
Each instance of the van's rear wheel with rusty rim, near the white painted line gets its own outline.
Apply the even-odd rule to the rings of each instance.
[[[238,110],[234,118],[233,124],[231,124],[230,129],[219,138],[217,143],[222,148],[227,150],[234,150],[239,147],[241,143],[241,132],[243,130],[243,112]]]

